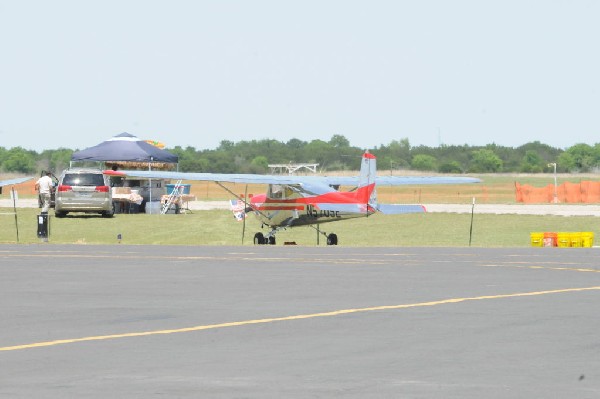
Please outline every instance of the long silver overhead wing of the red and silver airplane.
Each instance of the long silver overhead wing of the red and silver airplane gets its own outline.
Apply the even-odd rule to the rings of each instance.
[[[189,172],[162,172],[148,170],[123,170],[104,171],[109,176],[138,177],[143,179],[172,179],[172,180],[198,180],[242,184],[313,184],[313,185],[358,185],[358,176],[283,176],[283,175],[256,175],[256,174],[230,174],[230,173],[189,173]],[[470,184],[480,183],[474,177],[456,176],[377,176],[377,185],[401,186],[424,184]]]

